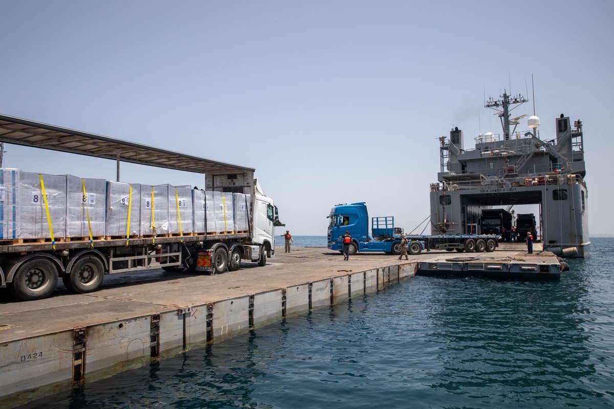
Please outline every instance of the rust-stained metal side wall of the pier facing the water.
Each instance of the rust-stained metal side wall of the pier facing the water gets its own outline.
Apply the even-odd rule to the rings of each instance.
[[[36,395],[111,376],[288,315],[374,293],[415,275],[417,269],[411,262],[346,273],[2,343],[0,406],[19,405]]]

